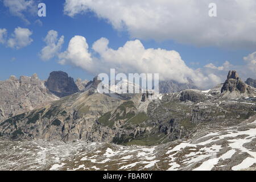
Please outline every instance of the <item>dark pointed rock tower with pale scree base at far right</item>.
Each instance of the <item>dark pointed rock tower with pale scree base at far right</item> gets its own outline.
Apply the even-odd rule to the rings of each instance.
[[[255,90],[241,80],[236,71],[229,71],[227,80],[221,88],[221,94],[228,98],[254,97]]]

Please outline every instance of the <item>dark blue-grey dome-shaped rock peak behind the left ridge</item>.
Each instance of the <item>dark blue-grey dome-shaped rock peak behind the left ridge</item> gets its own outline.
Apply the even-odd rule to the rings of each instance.
[[[46,81],[47,88],[58,97],[65,97],[79,92],[72,77],[62,71],[51,72]]]

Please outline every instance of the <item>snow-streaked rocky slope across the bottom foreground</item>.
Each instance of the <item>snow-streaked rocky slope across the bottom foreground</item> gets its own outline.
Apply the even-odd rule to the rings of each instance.
[[[256,166],[256,121],[159,146],[0,138],[0,170],[242,170]]]

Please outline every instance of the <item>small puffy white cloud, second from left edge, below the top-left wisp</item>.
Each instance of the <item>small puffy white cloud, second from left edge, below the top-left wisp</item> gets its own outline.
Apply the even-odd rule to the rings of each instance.
[[[15,49],[26,47],[33,42],[33,39],[30,38],[31,35],[32,31],[28,28],[17,27],[11,38],[7,41],[7,46]]]

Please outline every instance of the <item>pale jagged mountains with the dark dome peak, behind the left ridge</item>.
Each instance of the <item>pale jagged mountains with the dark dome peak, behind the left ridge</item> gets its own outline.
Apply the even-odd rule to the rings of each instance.
[[[26,111],[47,105],[85,89],[88,81],[68,77],[64,72],[52,72],[47,81],[40,80],[36,74],[31,77],[11,76],[0,81],[0,123],[5,119],[22,114]]]

